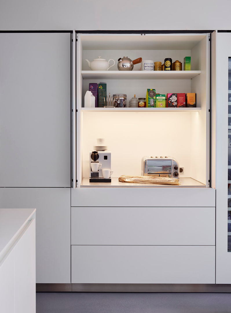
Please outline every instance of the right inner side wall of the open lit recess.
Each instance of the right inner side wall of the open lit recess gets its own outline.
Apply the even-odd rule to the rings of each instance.
[[[209,141],[209,124],[208,124],[208,103],[209,103],[209,50],[208,38],[203,38],[192,49],[191,62],[192,66],[199,68],[201,74],[192,79],[191,92],[196,93],[197,106],[201,111],[191,115],[191,172],[193,178],[203,182],[208,186],[208,141]]]

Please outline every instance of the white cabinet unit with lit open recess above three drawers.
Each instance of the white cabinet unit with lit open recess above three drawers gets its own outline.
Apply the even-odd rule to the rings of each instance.
[[[76,47],[76,177],[71,189],[72,283],[214,284],[215,189],[209,181],[209,34],[78,34]],[[85,59],[114,59],[109,71],[91,71]],[[189,72],[120,72],[128,56],[183,62]],[[107,95],[197,94],[185,109],[84,108],[89,83],[107,83]],[[89,151],[105,138],[112,152],[111,183],[89,183]],[[144,155],[175,157],[180,186],[118,182],[141,175]]]

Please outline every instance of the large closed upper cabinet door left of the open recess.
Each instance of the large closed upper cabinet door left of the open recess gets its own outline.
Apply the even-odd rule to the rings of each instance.
[[[70,33],[0,34],[1,187],[70,187]]]

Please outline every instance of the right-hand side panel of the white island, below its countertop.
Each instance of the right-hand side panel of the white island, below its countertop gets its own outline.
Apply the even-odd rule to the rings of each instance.
[[[36,312],[35,220],[20,238],[15,249],[15,313]]]

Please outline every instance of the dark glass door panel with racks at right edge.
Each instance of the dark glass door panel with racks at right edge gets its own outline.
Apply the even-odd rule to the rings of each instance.
[[[228,252],[231,252],[231,57],[228,58]]]

